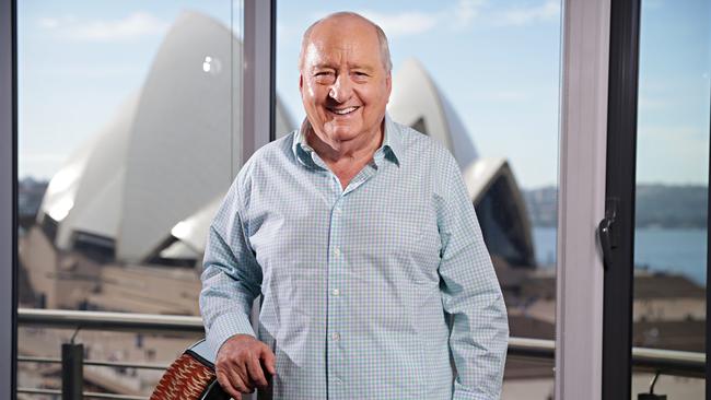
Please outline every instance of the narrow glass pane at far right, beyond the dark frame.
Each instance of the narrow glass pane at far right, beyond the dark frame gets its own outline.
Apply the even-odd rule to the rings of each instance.
[[[636,346],[704,352],[711,3],[642,1],[637,139]],[[632,392],[649,390],[633,375]],[[701,399],[703,379],[655,392]]]

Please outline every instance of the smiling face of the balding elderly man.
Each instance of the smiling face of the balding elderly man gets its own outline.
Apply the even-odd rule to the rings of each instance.
[[[322,140],[338,146],[380,130],[392,85],[373,26],[325,21],[312,31],[303,57],[301,97]]]

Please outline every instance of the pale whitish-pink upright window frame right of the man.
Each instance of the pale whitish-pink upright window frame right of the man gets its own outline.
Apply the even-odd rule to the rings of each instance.
[[[556,393],[602,398],[603,260],[610,0],[562,2]]]

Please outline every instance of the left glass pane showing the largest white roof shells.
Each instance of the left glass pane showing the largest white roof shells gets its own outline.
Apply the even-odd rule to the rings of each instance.
[[[20,307],[198,315],[208,226],[241,166],[242,1],[21,1]],[[20,327],[21,356],[74,332]],[[195,338],[80,331],[94,361],[167,364]],[[147,396],[162,372],[86,367]],[[19,386],[59,388],[21,362]],[[25,395],[21,395],[25,396]]]

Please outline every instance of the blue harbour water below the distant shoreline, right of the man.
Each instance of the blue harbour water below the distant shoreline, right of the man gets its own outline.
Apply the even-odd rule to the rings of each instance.
[[[556,228],[534,227],[539,266],[556,263]],[[637,228],[634,264],[655,272],[684,274],[706,286],[707,231],[692,228]]]

